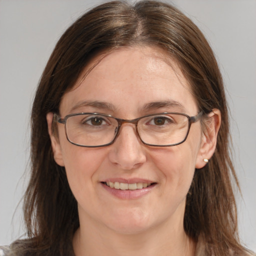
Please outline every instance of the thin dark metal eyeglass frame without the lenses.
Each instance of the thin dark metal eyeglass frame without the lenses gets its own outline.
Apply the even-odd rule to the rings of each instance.
[[[76,115],[83,115],[83,114],[92,114],[92,115],[103,115],[103,116],[106,116],[106,117],[111,117],[111,118],[114,118],[117,123],[118,123],[118,126],[117,126],[117,131],[116,131],[116,134],[115,136],[113,137],[113,139],[109,142],[109,143],[106,143],[106,144],[103,144],[103,145],[94,145],[94,146],[87,146],[87,145],[80,145],[80,144],[77,144],[77,143],[74,143],[72,142],[69,138],[68,138],[68,135],[67,135],[67,130],[66,130],[66,120],[68,117],[70,116],[76,116]],[[188,119],[188,128],[187,128],[187,132],[186,132],[186,135],[184,137],[184,139],[181,141],[181,142],[178,142],[178,143],[174,143],[174,144],[168,144],[168,145],[156,145],[156,144],[149,144],[149,143],[145,143],[142,138],[140,137],[139,135],[139,132],[138,132],[138,128],[137,128],[137,124],[138,124],[138,121],[142,118],[145,118],[145,117],[149,117],[149,116],[153,116],[153,115],[160,115],[160,114],[180,114],[180,115],[183,115],[183,116],[186,116],[187,119]],[[161,113],[154,113],[154,114],[147,114],[147,115],[143,115],[143,116],[140,116],[140,117],[137,117],[137,118],[134,118],[134,119],[122,119],[122,118],[117,118],[117,117],[114,117],[110,114],[102,114],[102,113],[97,113],[97,112],[80,112],[80,113],[72,113],[72,114],[67,114],[65,115],[63,118],[61,118],[57,113],[54,113],[53,115],[53,120],[56,120],[58,123],[61,123],[61,124],[64,124],[64,128],[65,128],[65,135],[66,135],[66,139],[68,140],[68,142],[70,142],[71,144],[73,145],[76,145],[76,146],[81,146],[81,147],[102,147],[102,146],[108,146],[108,145],[111,145],[114,143],[115,139],[117,138],[117,136],[119,135],[119,132],[120,132],[120,128],[121,128],[121,125],[123,123],[132,123],[135,125],[135,131],[136,131],[136,135],[137,137],[140,139],[140,141],[145,144],[145,145],[148,145],[148,146],[175,146],[175,145],[179,145],[181,143],[183,143],[187,136],[188,136],[188,133],[189,133],[189,130],[190,130],[190,126],[192,123],[194,122],[197,122],[201,116],[203,114],[203,111],[200,111],[197,115],[194,115],[194,116],[189,116],[185,113],[179,113],[179,112],[161,112]]]

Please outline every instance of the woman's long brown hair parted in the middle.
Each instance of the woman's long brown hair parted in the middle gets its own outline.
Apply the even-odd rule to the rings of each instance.
[[[195,171],[187,194],[184,230],[205,241],[205,255],[245,255],[237,235],[229,157],[229,125],[221,74],[214,54],[196,25],[175,7],[143,0],[101,4],[78,18],[60,37],[42,73],[31,112],[31,177],[24,196],[26,240],[13,248],[32,255],[70,255],[79,226],[77,203],[64,167],[52,156],[46,113],[58,112],[63,94],[72,88],[88,61],[102,49],[153,45],[179,64],[198,109],[221,111],[216,150],[209,163]]]

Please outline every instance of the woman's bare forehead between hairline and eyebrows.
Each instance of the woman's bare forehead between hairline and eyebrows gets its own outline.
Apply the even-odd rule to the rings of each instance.
[[[64,94],[60,111],[75,112],[75,106],[86,101],[104,102],[112,111],[122,112],[140,111],[151,102],[175,101],[193,111],[196,103],[189,88],[176,62],[161,49],[120,48],[90,61],[73,89]]]

